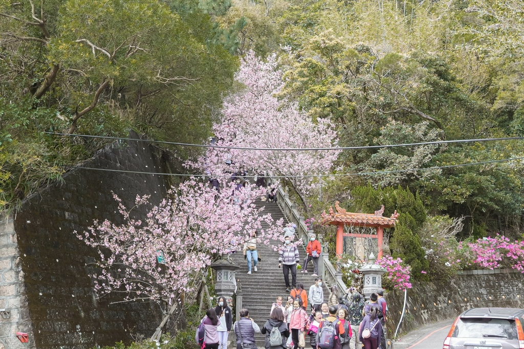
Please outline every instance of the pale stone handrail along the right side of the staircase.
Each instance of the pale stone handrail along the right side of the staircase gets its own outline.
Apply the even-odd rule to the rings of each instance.
[[[275,185],[278,184],[278,181],[269,176],[266,177],[269,178],[269,184]],[[304,223],[304,217],[300,216],[300,213],[297,211],[297,206],[291,202],[289,199],[289,194],[287,194],[281,187],[277,188],[277,203],[282,208],[282,211],[284,212],[284,216],[292,223],[297,224],[297,231],[298,237],[302,239],[304,242],[304,250],[305,246],[307,245],[309,241],[309,236],[313,233],[312,230],[309,230],[308,227]],[[322,279],[327,285],[336,285],[339,287],[339,290],[342,292],[347,291],[347,287],[342,281],[342,273],[337,272],[335,267],[333,267],[333,264],[329,261],[328,258],[328,249],[326,249],[324,246],[322,246],[322,253],[320,254],[320,260],[319,260],[319,273],[322,276]]]

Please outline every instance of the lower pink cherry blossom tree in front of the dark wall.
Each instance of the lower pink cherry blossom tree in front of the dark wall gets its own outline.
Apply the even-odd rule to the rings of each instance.
[[[219,192],[190,179],[172,188],[144,219],[134,217],[133,210],[144,205],[148,195],[137,196],[130,209],[114,195],[124,223],[95,221],[88,231],[77,233],[100,255],[99,271],[92,275],[97,293],[163,303],[171,307],[169,317],[182,295],[185,301],[194,297],[214,259],[231,253],[254,230],[260,243],[280,238],[282,221],[275,222],[253,204],[264,189],[235,190],[233,183],[222,184]],[[263,229],[263,223],[269,228]]]

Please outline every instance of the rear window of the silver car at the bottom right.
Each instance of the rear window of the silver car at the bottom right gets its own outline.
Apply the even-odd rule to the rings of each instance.
[[[455,327],[457,338],[504,338],[516,340],[515,320],[490,318],[461,318]]]

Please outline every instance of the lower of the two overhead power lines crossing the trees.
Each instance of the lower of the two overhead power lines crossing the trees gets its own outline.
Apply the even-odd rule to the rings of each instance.
[[[493,164],[498,162],[506,161],[516,161],[524,160],[524,156],[520,157],[511,157],[509,159],[500,159],[500,160],[489,160],[481,162],[472,162],[465,164],[457,165],[446,165],[446,166],[434,166],[434,167],[425,167],[425,168],[409,168],[406,170],[391,170],[391,171],[376,171],[376,172],[357,172],[357,173],[335,173],[335,174],[315,174],[315,175],[297,175],[297,176],[270,176],[273,178],[304,178],[304,177],[341,177],[341,176],[370,176],[370,175],[379,175],[379,174],[388,174],[388,173],[400,173],[400,172],[415,172],[415,171],[431,171],[431,170],[440,170],[442,168],[452,168],[452,167],[464,167],[464,166],[473,166],[473,165],[484,165],[484,164]],[[163,172],[141,172],[141,171],[128,171],[128,170],[112,170],[111,168],[94,168],[94,167],[82,167],[82,166],[69,166],[64,167],[69,168],[80,168],[83,170],[93,170],[93,171],[108,171],[108,172],[123,172],[123,173],[136,173],[136,174],[150,174],[150,175],[166,175],[166,176],[180,176],[180,177],[201,177],[201,176],[210,176],[210,175],[196,175],[196,174],[181,174],[181,173],[163,173]],[[224,174],[212,177],[230,177],[231,174]],[[261,176],[262,177],[262,176]]]

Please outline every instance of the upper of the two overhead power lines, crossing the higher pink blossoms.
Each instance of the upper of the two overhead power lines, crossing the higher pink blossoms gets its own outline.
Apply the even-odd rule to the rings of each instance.
[[[77,134],[77,133],[73,133],[73,134],[69,134],[69,133],[55,133],[55,132],[46,132],[46,133],[47,134],[51,134],[53,136],[70,136],[70,137],[84,137],[84,138],[117,139],[117,140],[124,140],[124,141],[182,145],[183,147],[238,149],[238,150],[257,150],[257,151],[263,151],[263,150],[270,150],[270,151],[320,151],[320,150],[380,149],[380,148],[396,148],[396,147],[416,147],[418,145],[431,145],[431,144],[471,143],[471,142],[488,142],[488,141],[511,141],[511,140],[522,140],[522,139],[524,139],[524,137],[505,137],[505,138],[457,139],[457,140],[447,140],[447,141],[432,141],[432,142],[403,143],[403,144],[386,144],[386,145],[361,145],[361,146],[358,146],[358,147],[250,148],[250,147],[229,147],[227,145],[192,144],[192,143],[179,143],[179,142],[168,142],[168,141],[155,141],[155,140],[147,140],[147,139],[111,137],[111,136],[92,136],[90,134]]]

